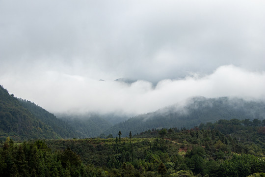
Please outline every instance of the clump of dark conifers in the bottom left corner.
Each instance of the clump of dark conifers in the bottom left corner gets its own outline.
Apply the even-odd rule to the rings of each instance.
[[[71,150],[52,152],[40,140],[17,146],[6,141],[0,149],[1,177],[87,177],[89,168]]]

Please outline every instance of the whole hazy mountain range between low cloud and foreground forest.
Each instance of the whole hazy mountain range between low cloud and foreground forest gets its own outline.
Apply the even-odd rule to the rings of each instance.
[[[121,137],[128,137],[130,131],[137,134],[148,129],[171,127],[191,128],[200,123],[215,122],[219,119],[264,119],[265,103],[245,101],[238,98],[194,97],[183,105],[173,105],[156,112],[138,115],[115,125],[113,115],[60,115],[55,117],[33,102],[9,95],[0,88],[0,116],[2,140],[10,136],[14,140],[34,138],[107,138],[115,137],[121,131]]]

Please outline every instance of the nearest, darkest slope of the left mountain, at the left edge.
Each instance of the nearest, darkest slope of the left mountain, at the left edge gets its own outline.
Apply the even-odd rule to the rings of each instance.
[[[13,94],[9,95],[0,86],[0,139],[5,140],[7,136],[14,140],[61,138],[51,126],[36,118]]]

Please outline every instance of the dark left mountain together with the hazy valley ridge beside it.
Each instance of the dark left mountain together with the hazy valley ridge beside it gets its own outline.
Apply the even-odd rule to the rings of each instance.
[[[111,117],[111,115],[110,115]],[[35,103],[9,95],[0,86],[0,140],[97,137],[112,124],[98,115],[57,118]]]

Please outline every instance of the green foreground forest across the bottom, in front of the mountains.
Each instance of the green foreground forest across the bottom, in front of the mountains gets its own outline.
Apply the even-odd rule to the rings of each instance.
[[[127,138],[0,144],[0,176],[264,177],[264,120],[219,120]],[[245,132],[245,134],[244,134]]]

